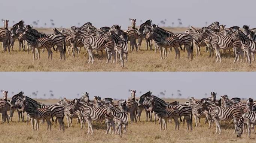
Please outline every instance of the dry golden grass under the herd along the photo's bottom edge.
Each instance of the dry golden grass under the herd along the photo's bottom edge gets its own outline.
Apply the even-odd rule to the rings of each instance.
[[[175,99],[184,103],[186,99]],[[54,104],[58,102],[55,99],[37,100],[45,104]],[[167,99],[171,102],[174,100]],[[9,114],[9,113],[8,113]],[[241,138],[237,138],[233,133],[231,124],[221,124],[222,133],[215,133],[215,124],[213,128],[208,129],[208,124],[204,124],[204,119],[201,119],[201,126],[195,127],[193,118],[193,131],[186,131],[186,124],[180,125],[180,130],[174,131],[174,122],[167,124],[167,130],[160,131],[159,124],[152,122],[146,122],[146,114],[143,111],[141,114],[141,120],[137,123],[129,124],[127,127],[128,132],[122,137],[113,134],[105,134],[105,128],[103,123],[93,123],[94,134],[86,134],[88,131],[87,125],[80,130],[80,124],[76,124],[76,120],[73,120],[73,127],[67,128],[67,120],[65,122],[65,132],[58,131],[58,124],[53,124],[52,131],[47,131],[47,124],[40,124],[39,131],[32,131],[31,124],[18,123],[18,115],[15,112],[13,115],[13,121],[9,124],[0,124],[0,142],[2,143],[252,143],[255,142],[256,134],[252,133],[251,137],[243,134]]]

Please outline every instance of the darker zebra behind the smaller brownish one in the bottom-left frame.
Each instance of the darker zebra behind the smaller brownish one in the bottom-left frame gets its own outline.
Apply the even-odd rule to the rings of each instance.
[[[22,101],[25,101],[27,105],[30,105],[35,109],[41,109],[41,108],[50,109],[52,112],[52,117],[56,117],[56,120],[58,120],[58,123],[60,124],[59,131],[61,130],[61,128],[63,131],[65,131],[64,122],[63,122],[64,108],[61,105],[57,105],[57,104],[44,105],[29,98],[28,96],[23,96],[23,98],[18,97],[18,100],[15,102],[15,106],[19,107],[22,104]],[[53,118],[52,118],[52,121],[54,122]]]

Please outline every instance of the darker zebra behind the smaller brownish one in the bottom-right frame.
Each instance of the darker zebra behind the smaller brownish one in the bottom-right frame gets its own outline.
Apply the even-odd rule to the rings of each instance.
[[[152,95],[151,98],[153,99],[153,102],[155,103],[155,105],[158,105],[161,108],[165,108],[165,109],[177,108],[177,109],[179,109],[180,117],[183,116],[186,120],[187,131],[189,130],[189,126],[190,126],[190,130],[192,131],[192,108],[189,105],[186,105],[186,104],[170,105],[170,104],[166,104],[166,102],[164,100],[162,100],[156,96]]]

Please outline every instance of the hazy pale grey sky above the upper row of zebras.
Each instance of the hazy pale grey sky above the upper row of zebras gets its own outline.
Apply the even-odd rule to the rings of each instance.
[[[247,24],[254,28],[255,4],[253,0],[1,0],[0,18],[9,19],[9,25],[21,19],[26,24],[39,20],[39,27],[45,22],[51,26],[53,19],[55,27],[92,22],[97,28],[118,24],[127,29],[129,18],[137,19],[137,25],[140,20],[152,19],[158,24],[167,19],[166,26],[172,22],[177,26],[180,18],[183,26],[202,27],[205,22],[219,21],[227,27]]]

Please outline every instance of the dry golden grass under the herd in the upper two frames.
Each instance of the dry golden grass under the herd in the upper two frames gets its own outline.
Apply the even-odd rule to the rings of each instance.
[[[169,28],[175,33],[184,32],[187,28]],[[46,33],[52,33],[52,29],[38,29]],[[2,47],[0,43],[0,47]],[[153,46],[154,47],[154,46]],[[26,46],[27,49],[27,46]],[[60,53],[53,52],[53,60],[47,60],[47,52],[40,52],[40,60],[33,60],[33,55],[25,51],[18,51],[18,42],[15,42],[11,53],[0,53],[0,71],[256,71],[255,61],[252,67],[247,63],[233,63],[233,53],[222,53],[222,63],[215,63],[216,56],[208,58],[209,53],[205,53],[205,48],[201,48],[201,55],[196,56],[193,51],[193,60],[187,59],[187,52],[180,52],[180,59],[174,59],[174,50],[167,59],[160,60],[159,51],[147,51],[146,42],[143,40],[141,50],[132,51],[128,54],[128,62],[125,67],[121,64],[106,64],[107,55],[95,54],[94,64],[88,62],[87,50],[82,48],[79,57],[73,58],[66,53],[66,61],[60,61]],[[1,50],[0,50],[1,51]],[[232,50],[231,50],[232,51]],[[221,51],[222,52],[222,51]],[[71,53],[71,50],[70,50]]]

